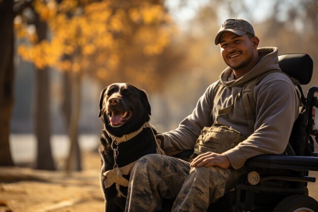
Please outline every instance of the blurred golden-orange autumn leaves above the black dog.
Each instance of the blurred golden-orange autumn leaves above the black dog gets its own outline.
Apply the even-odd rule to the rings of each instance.
[[[156,89],[173,71],[163,63],[177,57],[170,43],[176,27],[163,1],[35,0],[33,7],[48,23],[49,38],[38,42],[36,28],[24,16],[15,18],[15,29],[29,41],[18,53],[40,69],[54,67],[148,89]]]

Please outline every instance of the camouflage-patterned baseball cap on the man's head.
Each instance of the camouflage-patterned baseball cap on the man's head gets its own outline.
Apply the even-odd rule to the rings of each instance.
[[[224,32],[234,33],[239,36],[249,33],[252,36],[255,36],[253,26],[246,20],[241,18],[230,18],[224,21],[224,23],[221,25],[220,29],[218,30],[218,33],[215,36],[215,45],[220,43],[221,35]]]

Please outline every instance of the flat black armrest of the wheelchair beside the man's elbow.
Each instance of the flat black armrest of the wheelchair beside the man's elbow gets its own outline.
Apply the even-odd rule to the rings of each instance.
[[[247,167],[318,171],[318,158],[310,156],[260,155],[248,159]]]

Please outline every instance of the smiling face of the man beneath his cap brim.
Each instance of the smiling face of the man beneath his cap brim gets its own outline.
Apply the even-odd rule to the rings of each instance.
[[[224,62],[233,70],[249,69],[254,56],[252,41],[247,35],[238,36],[230,32],[222,33],[220,37],[221,55]],[[248,70],[249,71],[249,70]]]

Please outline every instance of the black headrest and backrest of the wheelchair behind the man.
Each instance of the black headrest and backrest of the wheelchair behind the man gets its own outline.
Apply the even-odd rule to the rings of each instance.
[[[310,156],[313,152],[313,139],[310,134],[312,131],[312,104],[307,101],[300,85],[308,84],[312,77],[313,62],[308,54],[283,54],[278,56],[280,69],[290,77],[297,79],[298,92],[302,103],[301,113],[299,114],[290,136],[290,144],[298,156]],[[309,110],[309,109],[310,110]],[[310,113],[310,114],[309,114]]]

